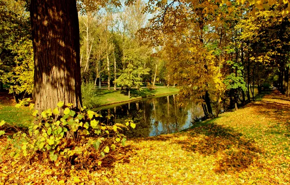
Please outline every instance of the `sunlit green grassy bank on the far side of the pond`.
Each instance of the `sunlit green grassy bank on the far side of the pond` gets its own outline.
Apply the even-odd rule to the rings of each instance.
[[[84,106],[87,107],[101,107],[111,104],[118,104],[124,102],[130,102],[137,99],[150,97],[150,96],[157,96],[157,95],[164,95],[164,94],[171,94],[179,92],[178,88],[170,87],[156,87],[155,89],[149,88],[142,88],[141,90],[131,89],[130,90],[130,98],[128,97],[128,92],[124,90],[108,90],[108,89],[97,89],[95,90],[93,96],[83,103]],[[87,105],[86,105],[87,104]],[[89,106],[88,106],[89,105]]]

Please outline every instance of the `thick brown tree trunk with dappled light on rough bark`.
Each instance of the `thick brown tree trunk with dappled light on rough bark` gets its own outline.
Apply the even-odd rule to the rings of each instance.
[[[76,0],[32,0],[35,109],[59,101],[80,108],[81,72]]]

